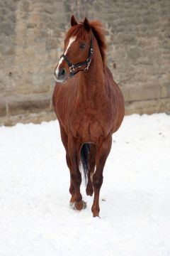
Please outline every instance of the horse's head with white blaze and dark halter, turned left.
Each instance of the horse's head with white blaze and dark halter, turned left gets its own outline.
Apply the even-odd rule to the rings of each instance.
[[[55,80],[64,82],[80,70],[88,70],[93,54],[93,38],[91,26],[87,18],[77,23],[74,16],[71,18],[71,28],[64,41],[62,54],[55,68]]]

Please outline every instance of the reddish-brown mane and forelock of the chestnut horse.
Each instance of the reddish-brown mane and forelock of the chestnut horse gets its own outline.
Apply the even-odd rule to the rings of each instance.
[[[101,52],[103,65],[105,66],[106,65],[106,48],[107,48],[105,31],[100,21],[91,21],[90,26],[91,26],[91,31],[94,33],[96,41],[98,42],[98,47]],[[78,36],[78,37],[84,38],[85,32],[86,32],[86,29],[84,28],[84,24],[78,23],[77,26],[72,26],[72,28],[69,29],[65,39],[67,40],[68,38],[70,38],[70,36]]]

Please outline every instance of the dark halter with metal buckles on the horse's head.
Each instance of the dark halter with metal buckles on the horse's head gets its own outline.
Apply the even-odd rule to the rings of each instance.
[[[77,74],[79,71],[87,71],[89,70],[90,64],[91,64],[91,55],[94,53],[94,48],[93,48],[93,35],[91,34],[91,45],[89,49],[89,55],[88,58],[81,63],[77,64],[72,64],[71,61],[67,58],[67,55],[62,54],[60,58],[64,58],[64,60],[67,62],[69,66],[69,77],[72,78],[75,74]],[[81,68],[82,66],[86,65],[86,68],[82,70],[77,70],[74,72],[76,68]]]

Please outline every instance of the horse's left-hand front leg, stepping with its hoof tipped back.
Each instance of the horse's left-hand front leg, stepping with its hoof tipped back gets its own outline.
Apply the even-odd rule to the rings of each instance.
[[[74,189],[74,208],[82,210],[86,207],[80,193],[81,185],[81,173],[79,171],[79,149],[80,145],[77,144],[74,137],[69,137],[68,150],[69,159],[71,161],[70,176],[71,176],[71,188]]]

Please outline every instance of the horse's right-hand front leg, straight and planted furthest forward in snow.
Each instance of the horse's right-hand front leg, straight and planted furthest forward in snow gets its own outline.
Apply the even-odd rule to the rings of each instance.
[[[103,168],[106,163],[109,152],[111,151],[112,137],[109,135],[103,142],[97,145],[96,153],[96,171],[93,176],[94,184],[94,203],[91,211],[94,217],[99,217],[99,194],[101,190],[101,185],[103,183]]]

